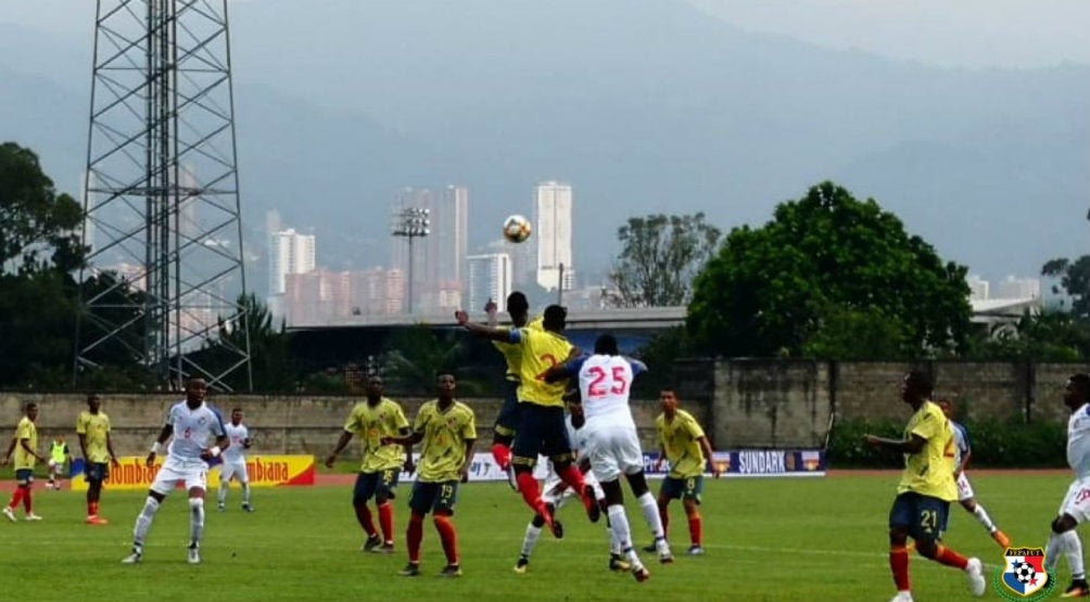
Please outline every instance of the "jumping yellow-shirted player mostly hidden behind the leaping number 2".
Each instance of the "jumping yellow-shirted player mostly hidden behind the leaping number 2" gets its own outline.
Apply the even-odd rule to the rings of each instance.
[[[496,304],[488,299],[485,312],[488,315],[488,327],[496,328],[499,323],[496,317]],[[511,317],[512,328],[536,328],[541,330],[541,320],[530,322],[530,303],[526,296],[514,291],[507,296],[507,314]],[[492,457],[500,470],[507,472],[511,489],[518,491],[519,483],[511,466],[511,443],[514,441],[514,430],[519,426],[519,372],[522,369],[522,346],[509,341],[493,341],[492,344],[504,354],[507,360],[507,373],[504,377],[507,385],[504,391],[504,405],[496,416],[493,427]]]

